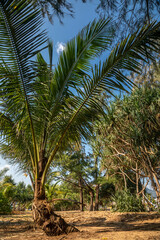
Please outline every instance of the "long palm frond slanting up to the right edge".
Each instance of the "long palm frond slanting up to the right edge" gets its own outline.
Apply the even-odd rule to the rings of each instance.
[[[66,115],[68,117],[63,121],[64,125],[62,124],[59,128],[61,134],[50,154],[46,171],[62,141],[71,133],[72,126],[76,126],[75,136],[85,136],[84,123],[89,124],[92,118],[94,119],[94,117],[98,117],[98,113],[102,113],[103,109],[99,102],[100,93],[104,90],[111,93],[111,89],[125,90],[126,87],[131,86],[132,83],[122,73],[122,70],[140,72],[140,61],[147,61],[148,58],[154,60],[153,52],[158,52],[159,40],[160,23],[146,25],[118,44],[103,64],[95,65],[92,76],[81,81],[83,84],[77,87],[78,101],[75,101],[75,105],[70,107],[69,115]],[[77,96],[74,97],[77,98]]]

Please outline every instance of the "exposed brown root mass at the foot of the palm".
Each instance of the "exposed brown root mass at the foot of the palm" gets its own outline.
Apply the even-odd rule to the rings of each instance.
[[[67,224],[61,216],[55,214],[53,208],[45,200],[34,202],[32,211],[36,225],[40,226],[49,236],[79,231],[74,226]]]

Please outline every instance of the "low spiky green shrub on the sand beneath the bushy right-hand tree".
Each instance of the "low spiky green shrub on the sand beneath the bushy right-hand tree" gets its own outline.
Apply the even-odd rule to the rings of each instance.
[[[145,207],[142,204],[142,198],[137,198],[129,191],[117,191],[113,198],[115,206],[114,211],[118,212],[143,212]]]

